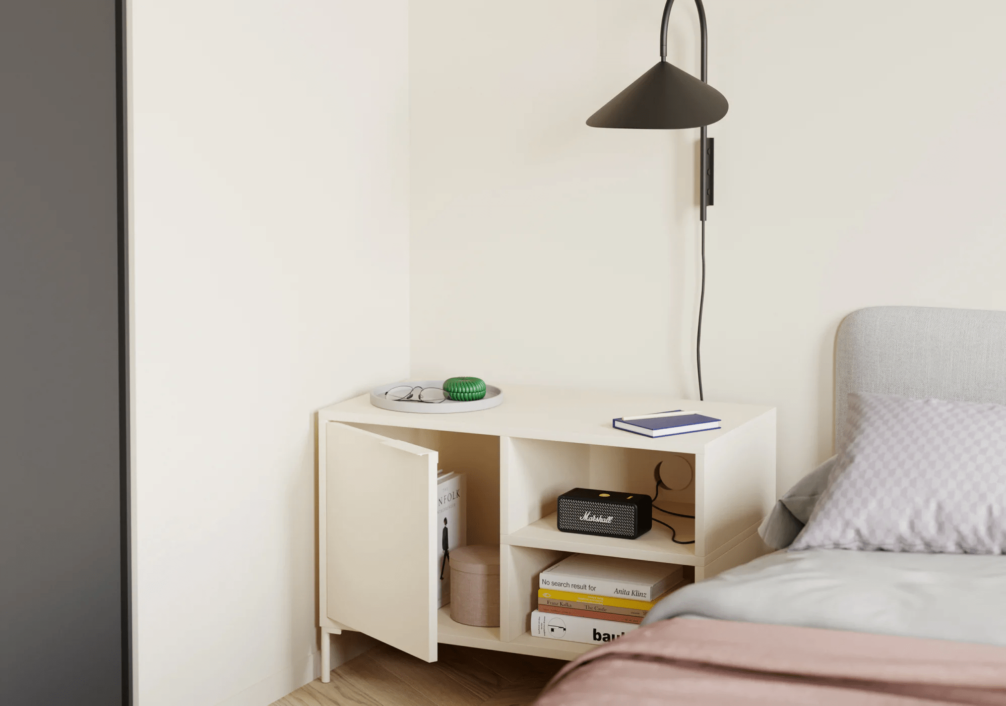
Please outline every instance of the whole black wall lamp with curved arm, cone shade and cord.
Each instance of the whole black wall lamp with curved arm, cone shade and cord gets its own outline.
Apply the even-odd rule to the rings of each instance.
[[[706,134],[706,126],[726,115],[729,105],[723,95],[707,82],[709,42],[702,0],[695,0],[702,40],[701,81],[668,63],[667,26],[672,5],[674,0],[667,0],[660,23],[660,61],[592,115],[586,124],[592,128],[637,130],[701,128],[699,218],[702,223],[702,288],[695,334],[695,371],[698,377],[698,399],[703,400],[701,342],[702,309],[705,305],[705,217],[706,208],[713,202],[713,140]]]

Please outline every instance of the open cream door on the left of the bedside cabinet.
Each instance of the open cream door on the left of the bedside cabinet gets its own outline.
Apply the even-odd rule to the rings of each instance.
[[[327,422],[328,616],[437,660],[437,452]]]

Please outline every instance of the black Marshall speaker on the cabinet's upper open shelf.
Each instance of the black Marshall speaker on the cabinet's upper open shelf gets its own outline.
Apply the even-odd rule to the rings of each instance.
[[[560,532],[636,539],[653,527],[653,501],[646,493],[574,487],[559,496]]]

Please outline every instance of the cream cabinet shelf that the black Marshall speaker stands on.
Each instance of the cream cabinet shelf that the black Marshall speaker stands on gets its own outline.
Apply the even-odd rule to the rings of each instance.
[[[671,521],[679,540],[694,539],[694,520],[671,518]],[[652,530],[634,540],[559,532],[555,524],[555,513],[552,513],[514,533],[501,535],[500,544],[694,566],[695,545],[675,544],[671,541],[671,536],[670,530],[656,523]]]

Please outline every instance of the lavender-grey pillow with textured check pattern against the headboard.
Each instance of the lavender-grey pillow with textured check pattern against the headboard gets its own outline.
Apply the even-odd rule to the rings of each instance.
[[[791,551],[1006,553],[1006,407],[852,393],[846,430]]]

